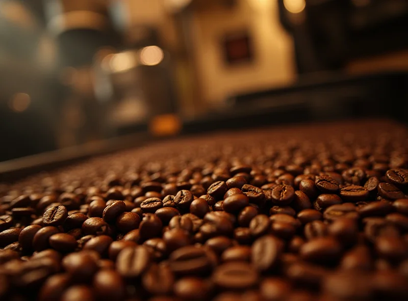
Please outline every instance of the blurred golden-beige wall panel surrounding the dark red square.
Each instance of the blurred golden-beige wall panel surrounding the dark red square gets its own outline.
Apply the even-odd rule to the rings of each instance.
[[[279,23],[276,1],[240,0],[233,10],[196,12],[192,19],[203,100],[217,104],[234,93],[284,85],[294,79],[292,40]],[[227,66],[220,40],[241,28],[249,28],[254,61]]]

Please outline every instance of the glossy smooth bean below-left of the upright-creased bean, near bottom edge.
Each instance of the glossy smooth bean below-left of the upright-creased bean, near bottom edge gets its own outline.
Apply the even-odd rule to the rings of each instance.
[[[125,296],[125,284],[114,270],[104,269],[96,273],[93,288],[98,300],[122,300]]]

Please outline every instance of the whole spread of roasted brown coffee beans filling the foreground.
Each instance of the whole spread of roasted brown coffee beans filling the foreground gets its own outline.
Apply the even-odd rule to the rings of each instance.
[[[2,300],[406,300],[408,130],[156,142],[0,189]]]

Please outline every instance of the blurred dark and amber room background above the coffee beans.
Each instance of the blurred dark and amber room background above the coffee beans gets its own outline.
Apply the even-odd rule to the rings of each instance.
[[[0,161],[137,133],[406,121],[407,71],[406,0],[0,0]]]

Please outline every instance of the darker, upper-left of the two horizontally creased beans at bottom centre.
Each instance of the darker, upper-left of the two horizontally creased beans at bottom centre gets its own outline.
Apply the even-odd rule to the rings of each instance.
[[[169,257],[170,269],[179,275],[207,273],[213,264],[210,251],[202,247],[186,246],[175,250]]]

